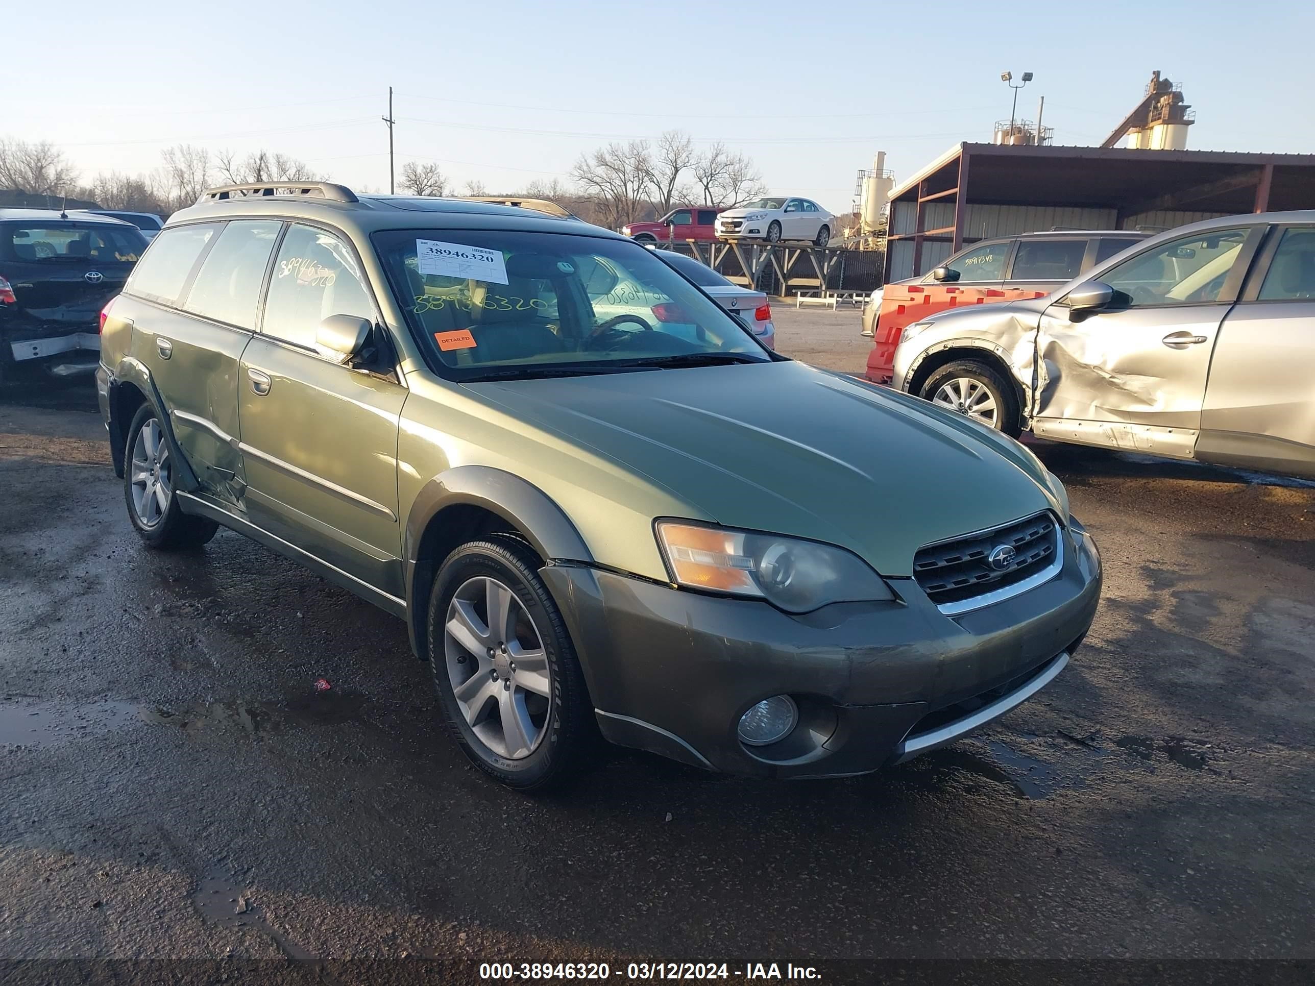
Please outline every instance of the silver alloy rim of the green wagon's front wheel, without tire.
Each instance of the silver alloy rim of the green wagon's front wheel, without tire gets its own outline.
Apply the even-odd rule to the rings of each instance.
[[[462,582],[443,626],[447,677],[479,740],[498,756],[530,756],[547,732],[552,677],[530,613],[496,578]]]

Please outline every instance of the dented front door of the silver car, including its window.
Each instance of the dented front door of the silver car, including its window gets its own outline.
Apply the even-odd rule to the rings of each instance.
[[[1106,271],[1111,304],[1041,316],[1032,430],[1066,442],[1191,458],[1206,377],[1262,229],[1169,241]]]

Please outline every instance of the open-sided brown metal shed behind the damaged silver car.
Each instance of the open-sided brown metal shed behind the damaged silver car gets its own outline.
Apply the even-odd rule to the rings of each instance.
[[[959,143],[892,189],[885,281],[992,237],[1285,209],[1315,209],[1315,154]]]

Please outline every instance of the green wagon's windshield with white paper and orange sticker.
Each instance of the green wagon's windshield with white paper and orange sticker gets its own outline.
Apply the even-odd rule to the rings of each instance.
[[[630,241],[396,230],[373,242],[430,362],[454,379],[772,359],[719,305]]]

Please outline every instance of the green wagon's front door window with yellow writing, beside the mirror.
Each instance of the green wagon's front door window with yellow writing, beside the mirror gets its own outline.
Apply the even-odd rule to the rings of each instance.
[[[274,262],[260,331],[314,348],[320,322],[329,316],[375,321],[356,255],[333,233],[293,223]]]

